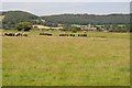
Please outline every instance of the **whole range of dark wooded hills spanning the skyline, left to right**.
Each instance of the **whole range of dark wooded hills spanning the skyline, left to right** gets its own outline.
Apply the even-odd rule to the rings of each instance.
[[[107,24],[129,24],[129,14],[108,14],[108,15],[96,15],[96,14],[58,14],[37,16],[35,14],[24,11],[4,11],[2,12],[4,19],[2,20],[3,29],[14,28],[18,22],[32,22],[33,24],[43,25],[57,25],[57,24],[95,24],[95,25],[107,25]]]

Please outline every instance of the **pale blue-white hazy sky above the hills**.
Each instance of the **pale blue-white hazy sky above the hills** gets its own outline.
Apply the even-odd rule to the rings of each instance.
[[[36,1],[36,0],[35,0]],[[34,13],[36,15],[52,15],[52,14],[63,14],[63,13],[88,13],[88,14],[111,14],[111,13],[129,13],[130,2],[129,0],[120,0],[120,2],[85,2],[85,0],[78,0],[75,2],[59,2],[48,0],[51,2],[38,1],[35,2],[30,0],[23,2],[19,1],[6,1],[2,0],[3,11],[9,10],[21,10]],[[70,0],[72,1],[72,0]],[[79,2],[81,1],[81,2]]]

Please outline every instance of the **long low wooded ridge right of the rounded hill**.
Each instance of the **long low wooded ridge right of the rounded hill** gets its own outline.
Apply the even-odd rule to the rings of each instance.
[[[42,18],[47,22],[63,24],[128,24],[130,20],[129,14],[59,14]]]

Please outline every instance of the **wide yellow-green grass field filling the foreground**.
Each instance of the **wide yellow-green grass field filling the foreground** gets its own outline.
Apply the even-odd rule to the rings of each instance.
[[[129,33],[2,37],[3,86],[129,86]]]

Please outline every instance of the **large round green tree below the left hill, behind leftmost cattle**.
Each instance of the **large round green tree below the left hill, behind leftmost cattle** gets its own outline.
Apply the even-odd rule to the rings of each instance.
[[[30,22],[20,22],[16,24],[18,31],[30,31],[32,29],[32,24]]]

